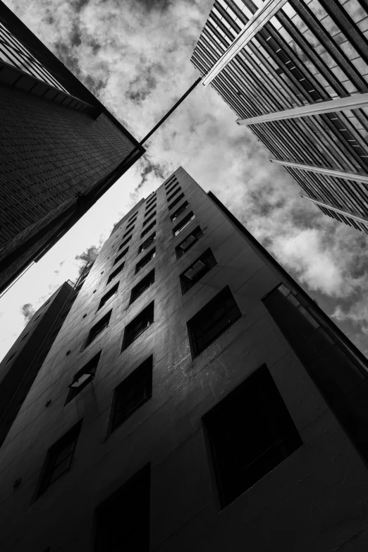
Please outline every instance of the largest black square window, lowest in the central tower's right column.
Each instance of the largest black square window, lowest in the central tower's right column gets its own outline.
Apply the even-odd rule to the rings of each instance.
[[[221,508],[302,446],[298,429],[266,366],[223,398],[203,422]]]

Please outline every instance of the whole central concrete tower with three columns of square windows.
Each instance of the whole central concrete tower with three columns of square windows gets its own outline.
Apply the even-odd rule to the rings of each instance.
[[[0,549],[365,550],[367,374],[180,167],[115,226],[0,448]]]

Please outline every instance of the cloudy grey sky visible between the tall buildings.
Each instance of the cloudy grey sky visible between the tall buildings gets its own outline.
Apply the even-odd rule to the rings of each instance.
[[[199,76],[190,56],[211,0],[5,0],[137,139]],[[0,299],[0,358],[114,223],[179,165],[231,209],[368,354],[368,236],[321,214],[211,89],[199,85],[147,154]],[[82,258],[81,258],[82,257]],[[2,340],[2,341],[1,341]]]

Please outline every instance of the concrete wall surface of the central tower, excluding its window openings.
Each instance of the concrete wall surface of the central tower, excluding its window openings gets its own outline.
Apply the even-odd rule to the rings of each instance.
[[[161,185],[116,225],[0,449],[1,551],[92,551],[95,509],[148,463],[151,551],[364,550],[367,467],[262,298],[283,283],[364,374],[366,361],[213,195],[183,168],[175,176],[188,209],[171,221],[176,208],[168,211]],[[150,249],[137,254],[151,233],[140,238],[153,197],[156,255],[135,274]],[[190,210],[195,219],[173,236]],[[106,285],[135,212],[123,270]],[[177,258],[176,246],[198,225],[202,237]],[[180,274],[209,247],[216,266],[182,295]],[[152,269],[154,284],[129,305],[132,288]],[[118,292],[97,312],[117,282]],[[192,358],[187,322],[225,286],[242,316]],[[125,326],[152,301],[153,323],[122,351]],[[109,326],[85,347],[90,329],[111,309]],[[73,376],[99,351],[94,379],[65,405]],[[152,398],[109,434],[114,389],[149,355]],[[264,364],[303,444],[221,510],[202,417]],[[35,499],[47,450],[80,420],[70,471]]]

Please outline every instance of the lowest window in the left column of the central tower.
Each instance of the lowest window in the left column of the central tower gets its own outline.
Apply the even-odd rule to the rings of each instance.
[[[81,426],[82,420],[49,448],[42,468],[36,498],[41,496],[56,479],[59,479],[70,470]]]

